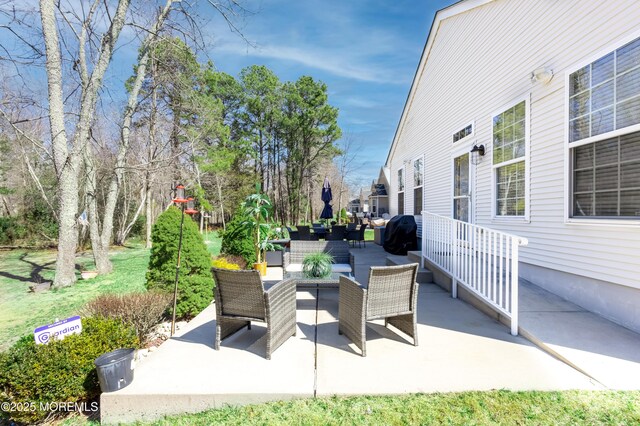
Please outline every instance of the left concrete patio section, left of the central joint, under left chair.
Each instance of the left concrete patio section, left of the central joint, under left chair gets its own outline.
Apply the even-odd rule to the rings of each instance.
[[[228,404],[250,404],[314,395],[315,295],[297,294],[297,335],[265,358],[266,328],[252,324],[214,350],[215,306],[135,368],[126,388],[100,397],[103,423],[148,420]]]

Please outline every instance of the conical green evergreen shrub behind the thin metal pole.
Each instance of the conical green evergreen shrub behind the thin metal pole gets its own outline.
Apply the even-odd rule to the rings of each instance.
[[[178,260],[181,212],[170,207],[162,213],[151,232],[151,257],[147,270],[147,288],[173,292]],[[180,280],[176,316],[191,318],[198,315],[213,300],[211,258],[198,226],[189,217],[184,219]]]

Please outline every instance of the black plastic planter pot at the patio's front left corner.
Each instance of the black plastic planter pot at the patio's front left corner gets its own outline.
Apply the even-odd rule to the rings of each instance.
[[[102,392],[114,392],[133,381],[135,349],[116,349],[100,355],[95,361]]]

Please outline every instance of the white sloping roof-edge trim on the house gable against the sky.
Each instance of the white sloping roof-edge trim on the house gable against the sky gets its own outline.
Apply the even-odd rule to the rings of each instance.
[[[429,36],[427,37],[427,42],[425,43],[424,49],[422,50],[422,56],[420,57],[418,68],[416,69],[416,73],[413,77],[413,82],[411,83],[411,89],[409,89],[407,100],[404,104],[404,108],[402,109],[402,115],[400,116],[400,121],[398,121],[398,127],[396,127],[396,133],[393,136],[393,142],[389,147],[389,153],[387,154],[385,167],[389,167],[389,159],[391,158],[391,155],[395,151],[398,140],[400,139],[400,135],[402,134],[404,123],[405,123],[405,120],[407,119],[407,112],[409,111],[409,109],[411,108],[411,104],[413,103],[413,96],[415,95],[418,89],[418,83],[422,78],[425,64],[429,59],[429,54],[431,53],[431,46],[433,46],[433,42],[438,34],[438,28],[440,27],[440,22],[452,16],[459,15],[464,12],[468,12],[469,10],[475,9],[476,7],[484,6],[485,4],[491,3],[493,1],[495,0],[461,0],[452,4],[451,6],[447,6],[444,9],[440,9],[439,11],[436,12],[436,16],[433,18],[433,22],[431,23],[431,29],[429,30]]]

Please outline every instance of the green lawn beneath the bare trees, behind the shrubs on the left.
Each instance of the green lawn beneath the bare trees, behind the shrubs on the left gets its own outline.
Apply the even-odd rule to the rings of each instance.
[[[220,239],[216,233],[208,234],[207,247],[212,254],[219,253]],[[79,280],[67,288],[30,293],[29,286],[34,281],[53,279],[55,260],[54,250],[0,252],[0,351],[38,326],[77,315],[96,296],[145,290],[149,250],[139,242],[113,248],[113,273],[109,275]],[[77,264],[91,268],[91,252],[79,256]]]

